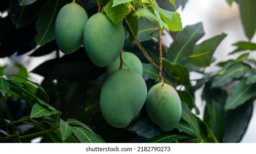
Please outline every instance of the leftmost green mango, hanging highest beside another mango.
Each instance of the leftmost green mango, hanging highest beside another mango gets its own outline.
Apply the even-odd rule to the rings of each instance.
[[[83,29],[88,16],[77,3],[71,2],[60,9],[55,21],[55,38],[61,52],[70,54],[83,44]]]

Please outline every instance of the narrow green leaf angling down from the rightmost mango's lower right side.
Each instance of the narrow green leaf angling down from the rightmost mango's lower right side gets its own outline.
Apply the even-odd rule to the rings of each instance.
[[[198,139],[200,139],[201,138],[201,131],[200,131],[200,126],[197,122],[197,119],[196,119],[195,115],[190,111],[190,109],[186,105],[186,103],[184,103],[184,102],[182,102],[182,116],[181,116],[181,118],[183,120],[185,120],[185,122],[187,122],[191,126],[195,136]]]

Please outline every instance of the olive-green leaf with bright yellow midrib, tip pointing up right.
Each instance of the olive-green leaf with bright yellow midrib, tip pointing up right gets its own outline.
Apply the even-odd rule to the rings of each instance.
[[[197,67],[208,67],[212,62],[213,53],[226,36],[226,34],[217,35],[196,45],[189,56],[188,63]]]

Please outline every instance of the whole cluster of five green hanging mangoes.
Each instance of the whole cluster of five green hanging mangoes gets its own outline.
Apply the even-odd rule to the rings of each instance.
[[[159,83],[147,91],[140,59],[122,52],[123,69],[119,69],[119,54],[124,45],[122,23],[114,25],[105,13],[88,18],[75,1],[61,8],[55,23],[55,37],[61,52],[70,54],[85,46],[91,61],[106,67],[106,80],[101,89],[100,107],[103,117],[113,127],[126,127],[142,109],[161,129],[168,131],[179,123],[181,101],[176,90]]]

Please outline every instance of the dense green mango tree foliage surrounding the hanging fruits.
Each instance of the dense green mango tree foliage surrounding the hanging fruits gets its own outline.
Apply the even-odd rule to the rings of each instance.
[[[2,0],[0,12],[0,57],[41,57],[59,52],[54,36],[56,15],[70,0]],[[19,72],[10,75],[8,65],[1,67],[0,141],[30,142],[41,136],[44,142],[239,142],[252,116],[255,100],[255,59],[249,59],[255,43],[250,42],[256,25],[254,0],[239,1],[241,19],[248,42],[237,42],[231,54],[236,59],[216,64],[213,53],[226,37],[218,34],[198,43],[205,34],[202,23],[182,28],[176,9],[187,1],[176,0],[102,0],[102,11],[114,24],[123,19],[126,27],[124,51],[136,54],[143,62],[143,78],[148,89],[158,81],[159,70],[142,52],[159,65],[158,30],[167,30],[173,38],[170,47],[163,45],[164,81],[176,88],[182,102],[182,117],[176,128],[163,131],[142,108],[126,128],[113,128],[103,118],[100,90],[105,68],[94,65],[85,48],[40,64],[32,73],[44,77],[39,85],[28,79],[27,70],[15,63]],[[227,0],[229,4],[233,1]],[[77,1],[91,17],[97,13],[95,0]],[[249,8],[248,8],[249,7]],[[127,19],[127,20],[126,20]],[[127,22],[128,21],[128,22]],[[142,45],[133,41],[134,36]],[[40,46],[38,46],[40,45]],[[15,53],[15,54],[14,54]],[[203,77],[191,80],[191,73]],[[194,82],[196,81],[196,82]],[[202,88],[206,102],[203,119],[198,118],[195,92]],[[193,112],[192,112],[193,111]],[[195,111],[195,112],[194,112]]]

